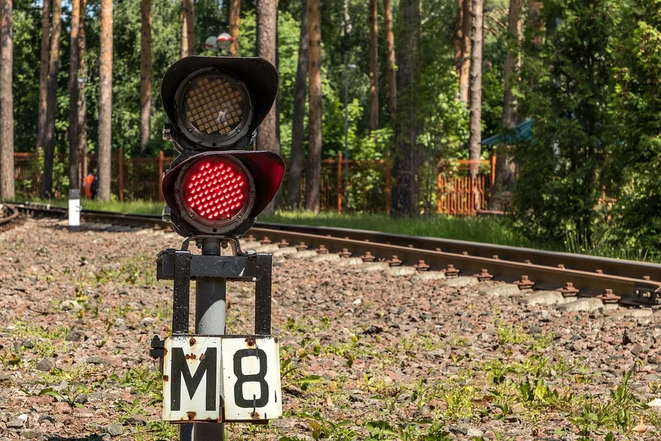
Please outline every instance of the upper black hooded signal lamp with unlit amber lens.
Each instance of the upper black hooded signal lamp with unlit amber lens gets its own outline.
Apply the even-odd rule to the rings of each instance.
[[[179,152],[243,150],[269,113],[277,70],[259,57],[185,57],[167,70],[160,94],[164,136]]]

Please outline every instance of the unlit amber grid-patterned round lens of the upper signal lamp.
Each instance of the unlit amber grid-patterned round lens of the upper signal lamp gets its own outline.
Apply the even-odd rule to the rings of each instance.
[[[234,81],[218,74],[193,79],[184,95],[184,112],[193,127],[208,135],[225,135],[241,124],[245,99]]]

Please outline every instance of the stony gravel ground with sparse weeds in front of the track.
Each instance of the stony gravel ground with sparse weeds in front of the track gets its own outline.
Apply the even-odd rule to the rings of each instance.
[[[149,342],[171,325],[154,259],[179,246],[57,220],[0,233],[0,439],[177,437]],[[658,438],[658,313],[322,259],[275,257],[284,417],[229,440]],[[252,289],[229,284],[228,334],[252,334]]]

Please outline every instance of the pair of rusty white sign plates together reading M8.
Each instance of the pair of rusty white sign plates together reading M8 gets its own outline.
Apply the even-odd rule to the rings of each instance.
[[[165,339],[163,416],[171,422],[264,422],[282,416],[277,338]]]

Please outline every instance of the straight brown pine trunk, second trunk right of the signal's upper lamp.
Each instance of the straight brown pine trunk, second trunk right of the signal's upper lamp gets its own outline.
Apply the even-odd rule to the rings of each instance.
[[[322,180],[322,17],[319,0],[308,0],[308,65],[310,116],[308,163],[305,175],[305,208],[315,213],[321,208]]]

